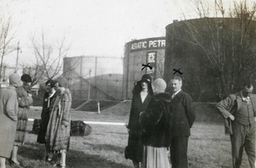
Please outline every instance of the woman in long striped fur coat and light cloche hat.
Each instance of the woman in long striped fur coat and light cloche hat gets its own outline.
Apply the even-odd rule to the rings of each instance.
[[[67,88],[66,78],[55,79],[55,90],[60,93],[55,98],[49,115],[49,124],[45,135],[49,152],[57,153],[57,167],[66,167],[66,154],[70,139],[70,110],[72,104],[71,92]]]

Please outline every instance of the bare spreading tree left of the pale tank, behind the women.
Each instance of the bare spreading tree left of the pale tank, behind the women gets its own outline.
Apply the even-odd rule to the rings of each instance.
[[[67,56],[70,46],[66,46],[66,39],[62,38],[59,44],[49,42],[46,31],[42,31],[39,38],[30,36],[32,50],[36,64],[32,67],[32,85],[47,81],[61,75],[63,58]]]

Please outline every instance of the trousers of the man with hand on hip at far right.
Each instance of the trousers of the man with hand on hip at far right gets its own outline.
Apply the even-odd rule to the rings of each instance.
[[[244,126],[233,121],[232,130],[230,140],[233,168],[240,168],[243,148],[247,153],[250,167],[255,168],[255,123]]]

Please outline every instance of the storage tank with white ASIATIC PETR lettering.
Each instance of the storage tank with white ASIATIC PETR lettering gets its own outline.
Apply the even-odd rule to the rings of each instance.
[[[123,99],[131,99],[134,83],[143,74],[150,74],[153,78],[163,77],[165,49],[164,36],[132,40],[125,44]]]

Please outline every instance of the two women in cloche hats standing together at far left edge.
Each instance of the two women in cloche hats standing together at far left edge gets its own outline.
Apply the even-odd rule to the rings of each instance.
[[[18,148],[25,141],[28,109],[32,105],[31,76],[12,74],[9,87],[0,96],[0,167],[20,165],[17,160]]]

